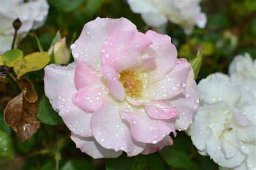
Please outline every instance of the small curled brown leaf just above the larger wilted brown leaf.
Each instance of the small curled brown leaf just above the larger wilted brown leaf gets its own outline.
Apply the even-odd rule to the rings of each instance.
[[[19,89],[22,90],[24,98],[29,101],[29,103],[35,103],[37,101],[37,93],[33,87],[31,81],[27,78],[22,78],[17,80]]]

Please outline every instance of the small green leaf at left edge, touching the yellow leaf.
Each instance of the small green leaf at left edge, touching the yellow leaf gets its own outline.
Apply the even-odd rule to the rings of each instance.
[[[15,64],[23,57],[23,51],[19,49],[6,51],[2,56],[2,63],[9,67],[15,66]]]

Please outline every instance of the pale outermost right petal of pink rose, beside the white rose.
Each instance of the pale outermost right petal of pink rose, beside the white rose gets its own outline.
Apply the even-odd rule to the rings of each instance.
[[[199,104],[197,83],[194,80],[192,69],[185,85],[185,96],[178,99],[174,98],[170,102],[170,105],[177,107],[177,110],[180,112],[179,118],[175,123],[175,127],[178,130],[186,130],[187,127],[190,126],[193,115],[197,111]]]

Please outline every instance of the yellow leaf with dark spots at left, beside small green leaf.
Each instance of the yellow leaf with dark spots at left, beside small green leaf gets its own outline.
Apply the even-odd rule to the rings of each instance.
[[[25,73],[43,69],[50,62],[48,52],[34,52],[25,56],[14,66],[17,77],[23,76]]]

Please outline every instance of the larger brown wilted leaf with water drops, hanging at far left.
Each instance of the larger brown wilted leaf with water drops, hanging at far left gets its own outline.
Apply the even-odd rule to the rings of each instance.
[[[37,106],[29,103],[23,93],[10,100],[4,110],[4,120],[24,142],[37,132],[40,121],[37,119]]]

